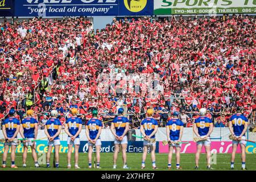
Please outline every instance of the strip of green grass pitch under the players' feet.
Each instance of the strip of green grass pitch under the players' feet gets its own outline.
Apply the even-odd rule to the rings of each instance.
[[[2,154],[1,154],[1,164],[2,164]],[[94,158],[94,154],[93,154]],[[153,170],[151,168],[151,162],[150,162],[150,155],[147,156],[146,160],[146,169],[141,169],[141,153],[127,153],[127,166],[130,167],[130,170],[133,171],[147,171],[147,170]],[[46,164],[41,164],[40,168],[35,168],[34,163],[32,161],[32,155],[31,153],[28,154],[27,157],[27,167],[22,167],[22,154],[16,154],[16,160],[15,164],[19,168],[12,169],[10,168],[11,161],[10,161],[10,154],[8,155],[7,162],[6,162],[6,168],[0,168],[0,171],[6,171],[6,170],[21,170],[21,171],[50,171],[50,170],[57,170],[57,171],[93,171],[93,170],[113,170],[113,171],[127,171],[129,169],[122,169],[122,156],[119,153],[118,156],[118,162],[117,162],[117,169],[112,169],[113,167],[113,153],[101,153],[101,169],[89,169],[88,168],[88,154],[87,153],[80,153],[79,155],[79,166],[81,169],[75,169],[75,163],[73,162],[74,158],[72,156],[72,168],[67,169],[67,154],[60,154],[60,168],[53,168],[53,154],[51,156],[51,168],[46,168]],[[175,163],[175,155],[173,155],[172,159],[172,169],[167,169],[167,161],[168,155],[167,154],[156,154],[156,166],[159,169],[154,169],[157,171],[176,171],[176,163]],[[213,170],[219,170],[219,171],[226,171],[230,170],[230,154],[217,154],[216,156],[216,163],[213,164],[212,168]],[[256,155],[255,154],[247,154],[246,155],[246,168],[248,170],[256,170]],[[93,165],[93,162],[92,162]],[[181,154],[181,160],[180,160],[180,166],[183,168],[181,170],[195,170],[195,154]],[[206,160],[205,160],[205,154],[200,155],[200,163],[199,163],[199,170],[206,170]],[[237,154],[234,170],[241,170],[241,157],[240,154]]]

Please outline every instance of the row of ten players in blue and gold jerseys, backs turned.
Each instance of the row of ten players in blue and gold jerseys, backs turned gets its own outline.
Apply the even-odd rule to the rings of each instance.
[[[242,169],[245,167],[245,132],[247,129],[247,118],[241,113],[241,108],[237,108],[238,113],[234,114],[230,118],[229,129],[230,132],[234,135],[233,140],[233,151],[231,158],[231,169],[234,168],[234,159],[236,155],[237,146],[240,143],[241,145],[241,159],[242,159]],[[65,123],[65,133],[68,135],[68,168],[71,168],[71,155],[72,148],[75,148],[75,168],[79,167],[79,146],[80,138],[79,134],[82,130],[82,121],[77,117],[77,109],[71,110],[72,117],[67,119]],[[207,168],[212,169],[210,166],[210,134],[213,131],[213,122],[211,119],[205,116],[207,110],[205,108],[200,109],[200,117],[196,119],[193,123],[193,132],[197,137],[200,137],[200,141],[197,142],[197,151],[195,157],[195,169],[199,168],[199,158],[201,149],[204,146],[207,153]],[[23,167],[26,167],[26,158],[28,147],[32,149],[32,157],[35,162],[35,167],[39,167],[37,156],[36,156],[36,142],[33,141],[37,138],[38,135],[38,126],[36,119],[33,118],[34,111],[28,110],[27,117],[23,119],[20,123],[18,119],[14,117],[15,110],[11,109],[9,112],[9,118],[5,119],[3,122],[3,135],[6,139],[5,142],[5,151],[3,152],[3,163],[2,167],[6,167],[7,153],[9,147],[11,147],[11,168],[17,168],[15,166],[15,149],[17,143],[15,138],[18,133],[22,136],[24,152],[23,152]],[[57,111],[51,111],[51,118],[46,122],[45,133],[48,137],[48,152],[47,152],[47,167],[50,167],[50,156],[52,152],[52,147],[55,147],[55,167],[59,167],[59,147],[60,147],[60,138],[61,133],[61,123],[57,119]],[[101,148],[101,139],[100,134],[102,130],[102,122],[98,119],[98,111],[93,110],[93,118],[86,123],[86,137],[88,138],[89,151],[88,151],[88,166],[92,168],[92,152],[93,146],[96,147],[96,168],[100,168],[100,148]],[[158,122],[152,118],[154,110],[147,110],[147,117],[141,122],[141,133],[144,137],[143,140],[143,155],[142,155],[142,165],[141,168],[145,168],[145,160],[148,153],[148,148],[150,148],[152,168],[156,169],[155,162],[155,134],[158,131]],[[168,168],[171,169],[171,160],[174,149],[176,150],[176,168],[180,169],[180,148],[181,138],[183,135],[183,123],[178,118],[179,113],[174,112],[174,118],[170,119],[167,122],[166,134],[169,143],[169,154],[168,154]],[[113,158],[113,168],[117,168],[117,156],[119,152],[119,147],[122,147],[122,159],[123,159],[123,168],[127,169],[127,158],[126,158],[126,148],[127,148],[127,131],[129,130],[129,121],[126,117],[123,116],[123,109],[118,109],[118,115],[114,118],[111,123],[110,130],[114,135],[114,158]]]

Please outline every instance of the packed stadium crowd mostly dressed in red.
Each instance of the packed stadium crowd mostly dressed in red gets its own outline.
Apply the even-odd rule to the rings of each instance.
[[[147,108],[164,126],[174,111],[192,127],[199,109],[226,127],[237,106],[254,121],[256,17],[232,15],[113,19],[93,30],[85,18],[33,18],[0,24],[0,118],[33,109],[43,129],[76,107],[112,121],[118,108],[137,128]],[[111,78],[110,78],[111,77]],[[105,123],[109,128],[109,123]]]

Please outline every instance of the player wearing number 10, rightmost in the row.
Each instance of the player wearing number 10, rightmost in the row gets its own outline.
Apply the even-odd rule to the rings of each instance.
[[[245,132],[248,127],[248,119],[241,113],[242,108],[237,107],[237,114],[232,115],[229,121],[229,130],[232,135],[234,135],[235,139],[233,140],[232,145],[232,156],[231,156],[231,169],[234,169],[234,159],[236,157],[237,146],[240,144],[241,146],[241,159],[242,159],[242,170],[246,170],[245,167]]]

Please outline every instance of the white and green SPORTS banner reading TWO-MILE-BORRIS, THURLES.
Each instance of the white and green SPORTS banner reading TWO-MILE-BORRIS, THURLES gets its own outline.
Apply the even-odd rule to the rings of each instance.
[[[155,15],[253,14],[255,0],[154,0]]]

